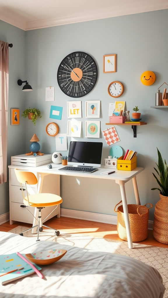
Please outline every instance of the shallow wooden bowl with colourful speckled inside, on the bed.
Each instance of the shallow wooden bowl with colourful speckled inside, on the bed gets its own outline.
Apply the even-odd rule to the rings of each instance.
[[[25,257],[37,265],[48,265],[61,259],[66,252],[67,250],[65,249],[48,249],[41,252],[33,252],[32,254],[25,254]]]

